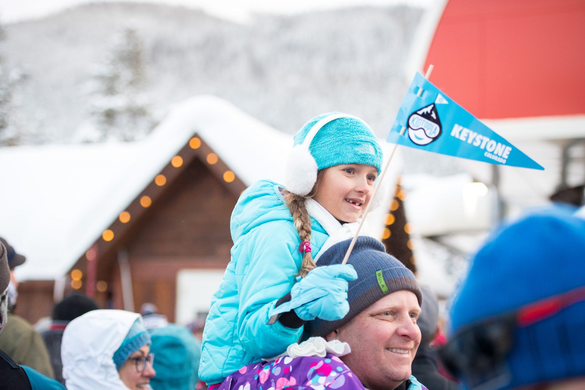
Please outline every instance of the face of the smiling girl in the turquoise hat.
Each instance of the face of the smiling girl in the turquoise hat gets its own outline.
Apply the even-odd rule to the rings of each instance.
[[[374,191],[378,170],[371,165],[336,165],[325,169],[314,199],[336,219],[355,222]]]

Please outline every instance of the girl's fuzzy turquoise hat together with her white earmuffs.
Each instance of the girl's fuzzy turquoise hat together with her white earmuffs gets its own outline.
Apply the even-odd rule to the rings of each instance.
[[[380,173],[382,159],[380,143],[362,119],[341,112],[321,114],[295,134],[285,184],[288,191],[306,196],[321,169],[364,164],[376,167]]]

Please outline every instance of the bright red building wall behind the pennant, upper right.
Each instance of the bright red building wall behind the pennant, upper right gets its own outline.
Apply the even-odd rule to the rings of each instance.
[[[450,0],[424,69],[479,118],[585,113],[585,1]]]

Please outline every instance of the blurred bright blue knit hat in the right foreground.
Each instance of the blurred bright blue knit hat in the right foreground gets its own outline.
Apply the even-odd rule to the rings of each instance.
[[[585,286],[585,220],[553,208],[505,225],[477,252],[451,331]],[[501,389],[585,375],[585,301],[514,331]]]

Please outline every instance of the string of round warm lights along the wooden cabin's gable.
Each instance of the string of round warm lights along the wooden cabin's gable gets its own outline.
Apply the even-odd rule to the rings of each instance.
[[[194,136],[189,140],[189,146],[191,149],[199,149],[201,145],[202,141],[197,136]],[[214,165],[219,161],[219,157],[215,153],[208,153],[207,156],[205,156],[205,161],[207,161],[209,165]],[[175,168],[178,168],[183,166],[183,163],[184,163],[183,157],[180,155],[176,155],[171,159],[170,165]],[[231,170],[226,170],[225,172],[223,172],[223,181],[225,181],[226,183],[232,183],[235,179],[236,175]],[[167,184],[167,177],[164,176],[162,173],[159,173],[159,175],[154,177],[153,181],[154,184],[156,184],[157,186],[163,187],[165,184]],[[142,197],[140,197],[139,203],[140,206],[142,206],[143,208],[148,208],[152,205],[152,199],[150,196],[143,195]],[[122,211],[122,213],[118,215],[118,220],[123,224],[128,223],[130,221],[130,218],[131,215],[127,210]],[[102,240],[106,242],[112,241],[114,236],[115,234],[111,228],[108,228],[104,230],[104,232],[102,232]],[[88,249],[88,251],[85,253],[85,258],[87,259],[87,261],[94,261],[97,258],[97,249],[95,245],[92,246],[92,248]],[[74,290],[80,289],[81,286],[83,285],[81,280],[83,278],[83,273],[81,272],[81,270],[73,269],[71,271],[70,276],[71,288],[73,288]],[[108,283],[105,280],[98,280],[98,282],[95,285],[95,288],[98,290],[98,292],[106,292],[106,290],[108,290]]]

